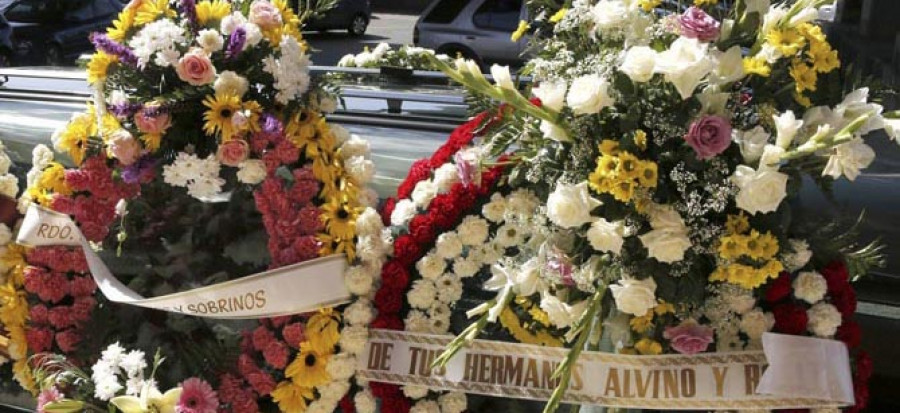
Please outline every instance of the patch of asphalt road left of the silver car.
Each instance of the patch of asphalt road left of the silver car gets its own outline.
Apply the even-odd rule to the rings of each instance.
[[[372,14],[366,34],[352,37],[346,30],[327,33],[304,32],[303,36],[314,49],[312,60],[319,66],[333,66],[348,53],[359,53],[364,47],[374,48],[378,43],[390,43],[397,48],[412,43],[413,26],[419,16],[403,14]]]

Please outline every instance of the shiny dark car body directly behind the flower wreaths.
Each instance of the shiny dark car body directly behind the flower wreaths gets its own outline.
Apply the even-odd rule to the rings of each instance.
[[[370,142],[377,168],[374,187],[382,198],[393,195],[410,165],[429,156],[466,119],[465,92],[450,85],[442,74],[414,72],[414,81],[398,82],[386,80],[372,69],[313,68],[314,76],[334,72],[344,73],[348,80],[342,84],[342,105],[329,120]],[[84,73],[77,69],[0,69],[0,141],[23,182],[32,148],[50,145],[53,131],[91,99],[84,80]],[[393,110],[396,105],[389,101],[400,101],[402,111]],[[795,202],[806,213],[833,221],[853,221],[865,210],[861,228],[865,241],[878,237],[888,245],[886,267],[857,283],[856,320],[863,328],[862,347],[875,361],[872,409],[897,411],[900,147],[886,137],[872,141],[878,158],[855,182],[836,182],[831,197],[811,189]],[[3,400],[6,398],[0,396],[0,404]]]

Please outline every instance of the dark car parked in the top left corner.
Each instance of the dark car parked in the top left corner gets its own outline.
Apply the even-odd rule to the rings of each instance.
[[[119,0],[14,0],[3,8],[0,54],[9,65],[74,62],[122,8]]]

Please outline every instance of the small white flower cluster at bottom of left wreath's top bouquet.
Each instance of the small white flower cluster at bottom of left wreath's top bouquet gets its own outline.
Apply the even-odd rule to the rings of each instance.
[[[195,154],[179,152],[175,161],[163,166],[165,183],[187,188],[188,195],[204,200],[222,192],[225,180],[219,176],[221,165],[215,155],[200,159]]]

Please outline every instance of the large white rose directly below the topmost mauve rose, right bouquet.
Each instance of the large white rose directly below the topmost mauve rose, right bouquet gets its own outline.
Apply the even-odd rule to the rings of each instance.
[[[656,71],[666,76],[682,99],[694,95],[694,89],[712,70],[713,63],[707,55],[709,45],[697,39],[679,37],[668,50],[659,54]]]

